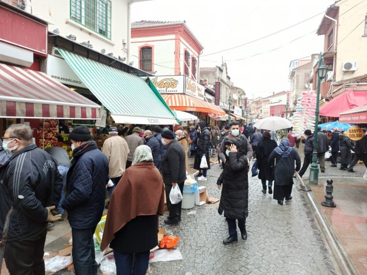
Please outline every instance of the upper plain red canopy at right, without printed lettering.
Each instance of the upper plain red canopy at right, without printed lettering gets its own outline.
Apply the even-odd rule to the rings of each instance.
[[[339,117],[339,113],[367,104],[367,91],[349,90],[320,108],[320,115]]]

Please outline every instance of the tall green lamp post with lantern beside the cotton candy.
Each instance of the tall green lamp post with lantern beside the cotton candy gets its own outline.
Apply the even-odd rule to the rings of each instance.
[[[319,113],[319,98],[320,98],[320,85],[321,80],[325,78],[327,73],[327,67],[324,65],[324,58],[321,57],[321,53],[318,58],[317,68],[317,97],[316,97],[316,110],[315,110],[315,131],[313,132],[313,154],[312,164],[309,170],[309,183],[318,184],[318,165],[317,165],[317,128],[318,128],[318,113]]]

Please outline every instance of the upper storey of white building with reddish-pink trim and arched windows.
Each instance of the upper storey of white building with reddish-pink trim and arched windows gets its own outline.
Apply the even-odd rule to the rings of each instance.
[[[156,75],[199,76],[203,46],[185,21],[139,21],[131,23],[131,60]]]

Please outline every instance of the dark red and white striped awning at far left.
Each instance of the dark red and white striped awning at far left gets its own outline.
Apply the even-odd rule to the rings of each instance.
[[[100,108],[45,73],[0,63],[0,117],[100,119]]]

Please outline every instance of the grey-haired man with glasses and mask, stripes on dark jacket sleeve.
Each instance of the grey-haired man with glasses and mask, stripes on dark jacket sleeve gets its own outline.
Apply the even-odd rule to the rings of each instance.
[[[10,217],[6,267],[10,274],[45,274],[46,226],[61,218],[61,214],[51,213],[61,194],[58,164],[33,144],[32,129],[27,125],[10,125],[2,139],[2,147],[13,155],[0,169],[0,235],[10,206],[18,195],[24,196]]]

